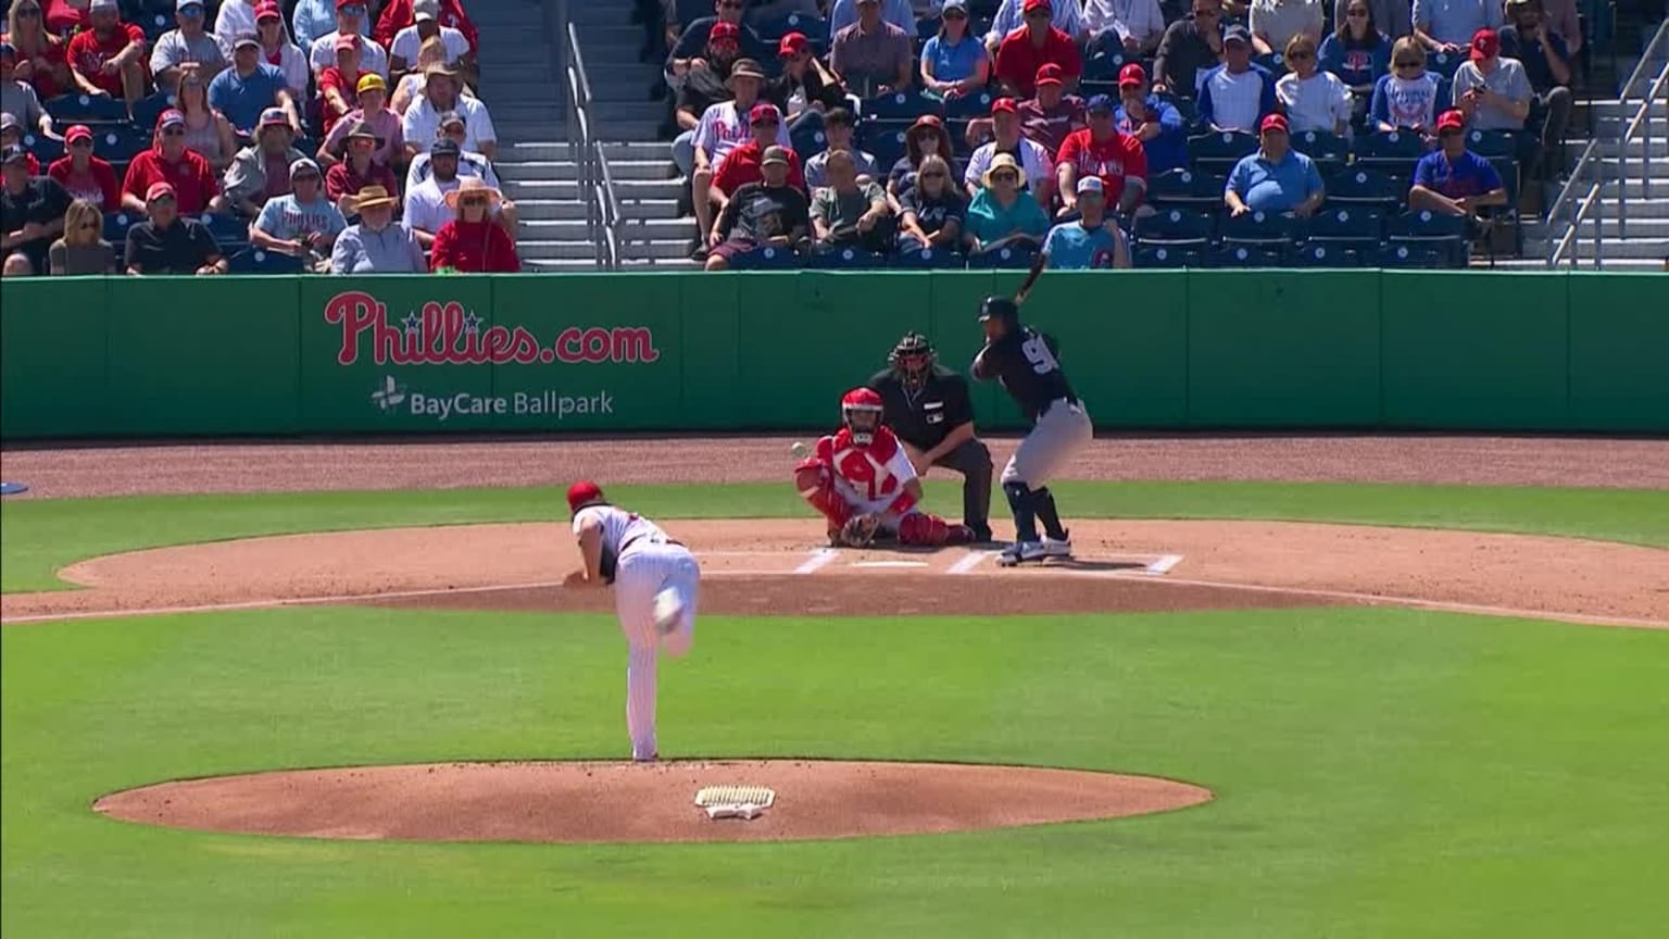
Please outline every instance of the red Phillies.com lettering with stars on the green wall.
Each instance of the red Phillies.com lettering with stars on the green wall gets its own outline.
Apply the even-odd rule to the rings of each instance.
[[[342,324],[335,361],[350,366],[369,343],[381,364],[479,366],[537,363],[653,363],[661,358],[648,326],[569,326],[549,346],[524,326],[489,326],[457,301],[429,301],[404,321],[389,322],[389,307],[364,291],[325,302],[325,322]]]

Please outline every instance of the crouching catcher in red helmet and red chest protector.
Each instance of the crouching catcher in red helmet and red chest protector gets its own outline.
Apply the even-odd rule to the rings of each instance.
[[[921,480],[910,456],[881,424],[881,396],[855,388],[840,401],[841,429],[818,439],[816,453],[794,466],[794,486],[828,520],[829,543],[865,548],[876,535],[901,545],[966,545],[973,531],[920,511]]]

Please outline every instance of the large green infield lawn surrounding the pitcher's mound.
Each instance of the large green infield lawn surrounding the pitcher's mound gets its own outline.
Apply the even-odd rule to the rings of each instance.
[[[454,516],[427,520],[537,505],[432,498]],[[332,521],[362,523],[337,505]],[[669,754],[1070,765],[1218,795],[1168,815],[577,847],[207,835],[88,810],[180,775],[621,755],[624,658],[603,617],[0,630],[0,932],[1529,939],[1669,921],[1669,633],[1404,610],[706,618],[663,668]]]

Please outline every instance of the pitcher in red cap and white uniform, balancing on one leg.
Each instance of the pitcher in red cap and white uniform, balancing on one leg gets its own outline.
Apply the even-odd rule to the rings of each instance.
[[[626,732],[631,759],[659,757],[654,739],[656,660],[659,652],[684,655],[696,635],[696,595],[701,568],[696,556],[666,536],[659,525],[616,508],[596,483],[567,490],[582,570],[564,586],[614,588],[614,615],[631,655],[626,663]]]

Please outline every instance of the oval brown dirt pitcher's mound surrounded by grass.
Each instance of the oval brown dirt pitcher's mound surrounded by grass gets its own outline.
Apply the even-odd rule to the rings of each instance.
[[[708,819],[704,785],[764,785],[753,820]],[[1087,770],[831,760],[432,764],[164,782],[93,810],[150,825],[392,840],[838,839],[1115,819],[1195,805],[1185,782]]]

